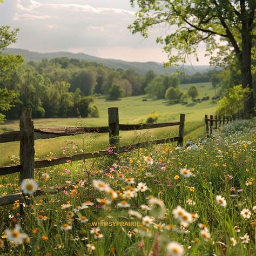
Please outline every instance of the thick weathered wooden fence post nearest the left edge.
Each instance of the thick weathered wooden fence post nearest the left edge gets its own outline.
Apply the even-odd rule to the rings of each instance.
[[[19,173],[19,182],[21,183],[23,179],[34,178],[35,149],[31,109],[22,109],[21,119],[19,120],[19,130],[25,132],[25,137],[21,140],[19,148],[19,157],[22,166],[21,172]]]

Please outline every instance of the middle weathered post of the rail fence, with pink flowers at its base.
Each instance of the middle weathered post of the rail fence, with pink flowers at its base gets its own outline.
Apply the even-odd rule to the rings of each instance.
[[[109,145],[114,146],[119,152],[119,117],[118,107],[109,107]]]

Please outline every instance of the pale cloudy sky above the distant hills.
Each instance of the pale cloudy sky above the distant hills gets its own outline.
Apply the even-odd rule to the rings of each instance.
[[[0,4],[0,25],[20,28],[12,48],[83,52],[139,62],[166,61],[166,53],[156,43],[163,29],[154,27],[146,39],[127,29],[135,12],[129,0],[4,0]],[[202,46],[199,62],[192,59],[192,63],[208,65]]]

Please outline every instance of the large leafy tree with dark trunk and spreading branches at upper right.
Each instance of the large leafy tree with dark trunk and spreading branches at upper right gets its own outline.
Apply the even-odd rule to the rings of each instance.
[[[198,45],[206,44],[213,64],[239,63],[242,87],[255,93],[252,82],[252,52],[255,51],[255,0],[130,0],[137,2],[136,20],[129,26],[132,33],[147,37],[147,30],[156,24],[170,26],[172,32],[157,38],[164,44],[169,64],[197,57]],[[164,29],[163,29],[164,31]],[[165,31],[169,31],[166,30]],[[254,95],[255,97],[255,95]],[[254,107],[253,94],[246,109]]]

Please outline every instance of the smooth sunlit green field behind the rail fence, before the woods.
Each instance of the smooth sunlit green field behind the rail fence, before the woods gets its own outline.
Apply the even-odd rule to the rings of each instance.
[[[192,84],[180,85],[181,91],[186,91]],[[210,99],[214,96],[214,89],[211,83],[198,83],[193,84],[197,87],[199,92],[199,97],[210,96]],[[170,105],[167,100],[152,100],[147,98],[146,102],[143,99],[147,98],[144,96],[127,97],[116,101],[106,101],[104,98],[96,98],[95,102],[100,109],[100,118],[83,118],[83,122],[86,126],[105,126],[107,125],[107,108],[108,107],[118,107],[119,108],[119,122],[122,124],[137,124],[140,122],[145,122],[146,117],[153,110],[160,114],[157,122],[168,122],[179,120],[179,114],[185,113],[185,139],[193,138],[198,139],[203,137],[205,134],[204,128],[204,115],[214,114],[216,103],[212,103],[212,100],[207,100],[202,103],[192,103],[188,102],[187,105],[174,104]],[[45,119],[35,119],[34,126],[39,127],[69,127],[77,126],[77,118],[45,118]],[[79,121],[80,122],[80,121]],[[15,131],[18,130],[18,120],[7,120],[4,124],[0,125],[0,131]],[[157,138],[163,138],[166,133],[172,135],[177,134],[178,127],[154,129],[150,133],[154,134]],[[121,132],[120,138],[123,144],[128,144],[131,142],[139,142],[147,139],[149,134],[146,131],[134,134],[134,132]],[[93,143],[91,143],[91,139]],[[73,137],[62,137],[55,139],[45,139],[36,140],[35,150],[37,157],[42,158],[48,156],[51,152],[55,154],[62,154],[60,147],[66,146],[67,142],[70,140],[82,147],[82,136]],[[85,136],[85,143],[88,145],[87,151],[92,149],[103,149],[108,143],[107,134],[101,134],[97,137]],[[89,146],[90,145],[90,146]],[[19,143],[5,143],[1,144],[1,156],[0,165],[9,163],[9,156],[18,155],[19,153]]]

